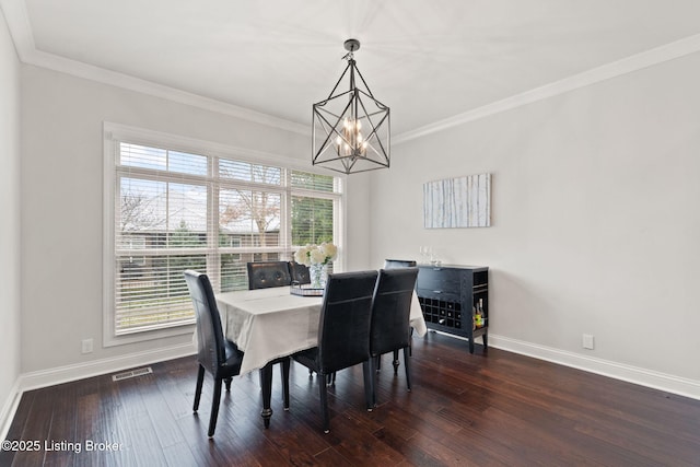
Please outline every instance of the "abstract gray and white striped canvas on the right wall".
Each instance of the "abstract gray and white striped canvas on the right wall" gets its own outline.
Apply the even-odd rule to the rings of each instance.
[[[491,174],[467,175],[423,184],[425,229],[491,225]]]

